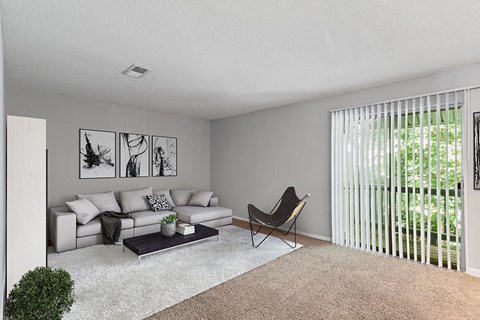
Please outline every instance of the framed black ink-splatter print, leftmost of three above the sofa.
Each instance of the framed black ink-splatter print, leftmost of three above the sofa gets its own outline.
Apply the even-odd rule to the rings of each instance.
[[[80,179],[115,178],[116,134],[80,129]]]

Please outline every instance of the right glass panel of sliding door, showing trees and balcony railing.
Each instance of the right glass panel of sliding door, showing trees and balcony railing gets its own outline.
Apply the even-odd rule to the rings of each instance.
[[[462,212],[460,108],[400,118],[400,130],[395,128],[400,139],[393,141],[397,153],[391,154],[400,158],[395,196],[403,252],[398,254],[457,269]]]

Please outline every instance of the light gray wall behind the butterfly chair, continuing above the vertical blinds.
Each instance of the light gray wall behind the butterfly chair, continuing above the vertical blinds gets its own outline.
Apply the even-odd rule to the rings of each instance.
[[[300,195],[312,194],[299,219],[299,230],[330,238],[329,110],[477,85],[480,64],[212,121],[212,189],[222,205],[246,219],[248,203],[268,210],[282,191],[293,185]],[[465,121],[471,123],[471,117]],[[465,175],[471,180],[472,170]],[[476,193],[480,195],[480,191]],[[467,203],[466,210],[469,207]],[[472,231],[466,239],[470,258],[467,267],[480,270],[480,218],[470,219],[468,228]]]

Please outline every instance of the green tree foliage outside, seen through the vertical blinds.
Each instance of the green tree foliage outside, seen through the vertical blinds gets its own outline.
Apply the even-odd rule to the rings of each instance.
[[[411,113],[408,118],[402,115],[400,126],[396,116],[393,119],[388,117],[386,128],[382,118],[380,122],[382,127],[374,133],[374,141],[380,142],[381,146],[386,145],[386,152],[383,152],[383,148],[373,150],[374,157],[369,160],[369,162],[373,160],[374,163],[369,165],[370,174],[375,175],[380,168],[379,186],[380,190],[383,190],[384,184],[387,184],[389,191],[386,194],[388,197],[386,203],[388,205],[390,205],[390,184],[393,183],[396,192],[400,192],[400,199],[398,193],[395,193],[393,210],[397,209],[396,202],[400,200],[403,228],[413,229],[415,221],[417,230],[421,229],[421,208],[423,207],[425,229],[430,218],[431,230],[434,232],[445,234],[448,227],[453,239],[457,229],[461,231],[461,228],[457,228],[461,223],[460,110],[458,108],[456,113],[454,109],[450,109],[449,112],[443,110],[438,114],[432,110],[430,128],[428,114],[424,112],[422,131],[418,113],[415,119]],[[455,124],[455,118],[457,118],[457,124]],[[391,120],[393,120],[392,132],[390,131]],[[414,122],[415,125],[413,125]],[[392,136],[390,132],[393,133]],[[400,163],[397,162],[398,155]],[[393,176],[391,166],[395,172]],[[421,177],[423,177],[423,185],[420,184]],[[431,194],[428,194],[429,181]],[[380,196],[383,203],[384,194],[380,193]]]

